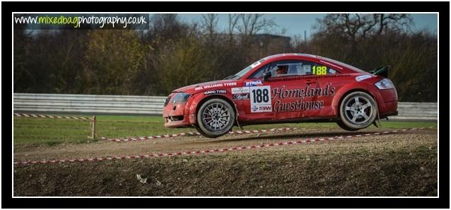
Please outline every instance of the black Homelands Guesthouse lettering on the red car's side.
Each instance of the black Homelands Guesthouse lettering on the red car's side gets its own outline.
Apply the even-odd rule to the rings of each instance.
[[[332,96],[335,94],[335,87],[332,83],[320,88],[311,88],[310,85],[305,88],[285,89],[285,86],[280,88],[273,88],[271,91],[271,98],[276,100],[274,102],[274,112],[292,112],[304,110],[318,110],[324,107],[324,100],[309,100],[305,98],[313,98],[317,96]],[[298,100],[291,102],[282,102],[286,98],[298,98]]]

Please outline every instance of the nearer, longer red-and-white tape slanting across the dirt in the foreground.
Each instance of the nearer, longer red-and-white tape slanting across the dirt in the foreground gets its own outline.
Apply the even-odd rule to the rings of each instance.
[[[430,127],[432,128],[432,127]],[[310,139],[304,139],[304,140],[298,140],[298,141],[283,141],[279,143],[270,143],[270,144],[259,144],[259,145],[253,145],[253,146],[240,146],[240,147],[230,147],[230,148],[214,148],[214,149],[207,149],[202,151],[183,151],[178,153],[150,153],[146,155],[137,155],[137,156],[112,156],[107,158],[74,158],[74,159],[64,159],[64,160],[52,160],[52,161],[22,161],[22,162],[14,162],[14,165],[34,165],[39,163],[74,163],[74,162],[93,162],[93,161],[110,161],[110,160],[119,160],[119,159],[134,159],[134,158],[161,158],[161,157],[171,157],[171,156],[189,156],[189,155],[199,155],[199,154],[208,154],[208,153],[219,153],[219,152],[225,152],[225,151],[242,151],[246,149],[252,149],[252,148],[265,148],[265,147],[272,147],[272,146],[290,146],[295,144],[307,144],[317,141],[330,141],[330,140],[346,140],[351,139],[353,137],[360,137],[360,136],[377,136],[377,135],[383,135],[383,134],[395,134],[398,132],[406,132],[406,131],[414,131],[417,129],[425,129],[425,127],[420,128],[412,128],[412,129],[400,129],[400,130],[394,130],[389,132],[376,132],[376,133],[368,133],[368,134],[356,134],[356,135],[349,135],[349,136],[334,136],[334,137],[322,137],[322,138],[310,138]]]

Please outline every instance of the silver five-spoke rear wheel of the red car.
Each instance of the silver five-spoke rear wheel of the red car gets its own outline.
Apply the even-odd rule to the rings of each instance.
[[[356,131],[370,126],[377,117],[377,105],[368,93],[356,91],[346,95],[340,104],[339,127]]]

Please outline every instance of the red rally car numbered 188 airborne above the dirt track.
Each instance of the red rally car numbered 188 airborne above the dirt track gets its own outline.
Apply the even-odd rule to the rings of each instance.
[[[367,73],[312,54],[276,54],[221,81],[179,88],[163,107],[165,127],[196,127],[207,137],[233,126],[336,122],[355,131],[397,115],[389,66]]]

